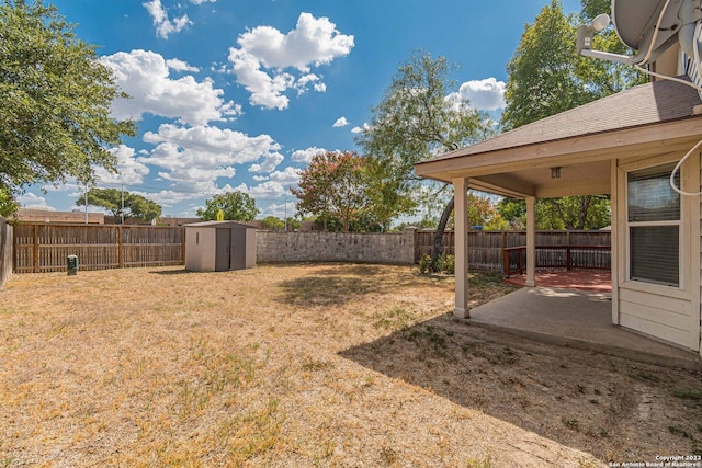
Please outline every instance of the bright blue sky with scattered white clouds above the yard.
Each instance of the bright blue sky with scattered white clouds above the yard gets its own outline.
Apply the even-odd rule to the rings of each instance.
[[[550,0],[46,0],[99,46],[138,135],[100,187],[193,216],[240,190],[260,217],[294,212],[290,186],[320,150],[354,150],[397,67],[418,48],[461,69],[461,93],[499,116],[506,65]],[[564,0],[564,10],[579,1]],[[75,209],[82,189],[29,187],[26,207]],[[97,208],[95,208],[97,209]]]

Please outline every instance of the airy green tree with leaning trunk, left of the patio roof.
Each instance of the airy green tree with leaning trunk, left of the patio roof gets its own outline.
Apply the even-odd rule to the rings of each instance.
[[[363,152],[375,161],[375,180],[388,187],[376,203],[397,206],[397,214],[417,206],[421,181],[414,164],[485,138],[491,132],[487,115],[471,107],[451,77],[456,66],[439,56],[416,52],[400,65],[381,103],[371,110],[371,125],[356,137]],[[395,205],[401,203],[403,205]],[[442,213],[434,244],[441,253],[443,230],[453,198]]]

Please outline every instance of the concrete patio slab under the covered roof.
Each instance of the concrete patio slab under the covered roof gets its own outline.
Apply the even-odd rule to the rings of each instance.
[[[611,295],[524,287],[471,310],[469,323],[632,361],[700,370],[699,353],[612,324]]]

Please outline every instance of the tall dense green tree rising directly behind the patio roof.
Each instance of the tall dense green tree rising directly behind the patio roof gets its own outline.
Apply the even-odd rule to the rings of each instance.
[[[643,73],[621,64],[580,57],[577,26],[600,13],[609,13],[607,0],[584,0],[582,12],[566,15],[561,1],[552,0],[533,24],[524,28],[514,56],[507,65],[509,80],[502,128],[512,129],[645,82]],[[613,30],[596,35],[593,48],[626,53]],[[548,229],[601,227],[609,216],[609,201],[580,196],[539,201],[537,213],[552,222]]]

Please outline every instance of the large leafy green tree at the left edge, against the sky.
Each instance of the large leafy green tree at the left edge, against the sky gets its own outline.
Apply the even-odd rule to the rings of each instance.
[[[109,147],[136,132],[110,116],[123,95],[55,7],[0,0],[0,215],[16,208],[27,184],[87,183],[94,167],[114,171]]]

